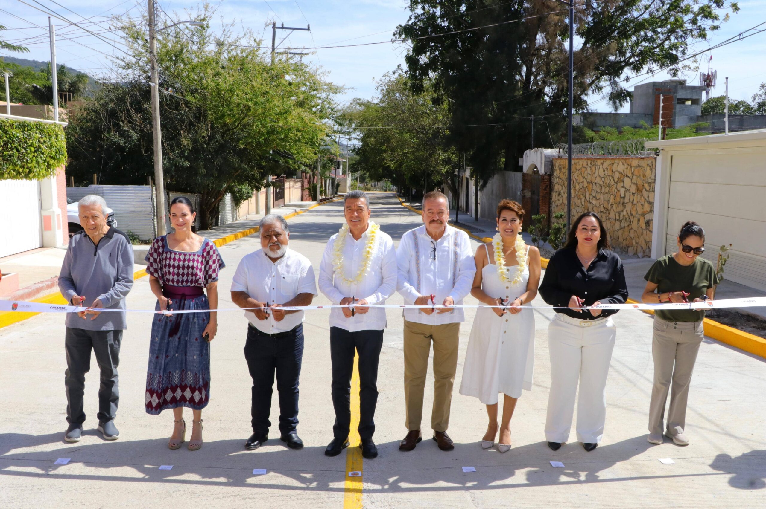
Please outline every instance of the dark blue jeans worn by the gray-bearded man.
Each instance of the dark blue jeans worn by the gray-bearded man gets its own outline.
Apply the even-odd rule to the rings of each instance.
[[[271,335],[248,325],[244,358],[253,379],[253,400],[250,406],[253,432],[269,432],[275,372],[280,398],[280,432],[282,435],[294,432],[298,426],[298,378],[303,360],[303,325]]]

